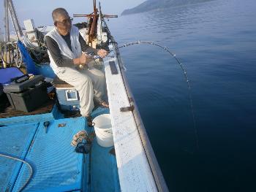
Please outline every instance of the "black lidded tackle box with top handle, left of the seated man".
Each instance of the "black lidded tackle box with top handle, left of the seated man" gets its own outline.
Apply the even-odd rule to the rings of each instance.
[[[29,77],[27,74],[4,85],[12,109],[31,112],[48,100],[47,83],[42,75]]]

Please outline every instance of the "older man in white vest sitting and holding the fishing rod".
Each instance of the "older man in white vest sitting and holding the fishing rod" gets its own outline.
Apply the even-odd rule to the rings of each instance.
[[[59,79],[74,86],[78,91],[80,114],[87,118],[91,126],[94,100],[103,107],[108,107],[108,103],[102,99],[106,90],[105,75],[97,69],[80,69],[78,66],[88,64],[89,57],[86,53],[94,53],[103,58],[108,52],[86,45],[78,28],[72,26],[72,18],[65,9],[54,9],[52,16],[56,27],[45,35],[50,66]]]

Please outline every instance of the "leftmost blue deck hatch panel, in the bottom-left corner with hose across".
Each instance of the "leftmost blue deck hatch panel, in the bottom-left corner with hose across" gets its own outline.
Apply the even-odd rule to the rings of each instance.
[[[0,153],[24,159],[38,123],[0,127]],[[22,163],[0,156],[0,191],[11,191]]]

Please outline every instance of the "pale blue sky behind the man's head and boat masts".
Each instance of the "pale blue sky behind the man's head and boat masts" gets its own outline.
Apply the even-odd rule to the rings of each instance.
[[[141,4],[146,0],[101,0],[102,12],[107,15],[119,15],[124,9],[129,9]],[[35,26],[52,25],[51,12],[57,7],[64,7],[73,14],[88,14],[93,11],[92,0],[12,0],[15,11],[18,15],[20,26],[23,26],[23,20],[32,18]],[[97,4],[98,4],[97,0]],[[0,0],[0,28],[4,31],[4,0]],[[78,18],[75,21],[80,22]],[[10,22],[11,23],[11,22]]]

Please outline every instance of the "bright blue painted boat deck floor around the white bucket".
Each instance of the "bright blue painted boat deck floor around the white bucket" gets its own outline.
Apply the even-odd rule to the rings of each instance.
[[[98,108],[92,116],[108,112]],[[13,120],[0,120],[4,125],[0,127],[0,153],[31,164],[33,175],[23,191],[120,191],[116,156],[110,153],[113,147],[100,147],[94,139],[91,152],[81,154],[70,145],[78,131],[93,131],[85,118],[63,118],[54,108],[37,118],[29,115]],[[46,120],[50,121],[47,133]],[[30,174],[26,164],[2,156],[0,172],[0,191],[19,191]]]

